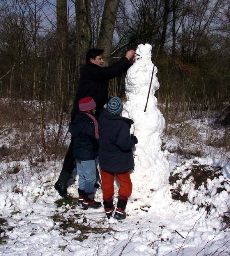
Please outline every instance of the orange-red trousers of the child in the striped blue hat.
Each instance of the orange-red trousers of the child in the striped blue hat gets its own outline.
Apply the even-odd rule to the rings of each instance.
[[[101,181],[102,181],[102,194],[105,201],[111,201],[114,195],[114,176],[120,184],[118,190],[118,198],[122,200],[128,200],[128,197],[132,193],[132,182],[130,180],[130,172],[114,173],[106,172],[101,169]]]

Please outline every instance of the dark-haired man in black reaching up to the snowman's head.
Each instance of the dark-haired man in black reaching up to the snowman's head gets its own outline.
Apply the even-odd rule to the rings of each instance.
[[[71,111],[71,121],[74,120],[76,114],[79,112],[79,100],[85,97],[94,99],[96,102],[96,115],[99,116],[108,100],[108,81],[126,72],[134,62],[135,51],[129,50],[126,52],[124,58],[112,64],[112,66],[102,67],[104,62],[102,59],[103,52],[104,50],[93,48],[86,53],[86,65],[80,69],[77,95]],[[71,137],[61,173],[54,186],[60,196],[64,198],[69,197],[67,194],[67,182],[71,178],[74,167],[73,137]]]

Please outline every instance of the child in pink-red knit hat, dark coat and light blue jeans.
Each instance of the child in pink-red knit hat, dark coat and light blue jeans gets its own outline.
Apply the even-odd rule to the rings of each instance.
[[[74,137],[73,157],[79,174],[79,201],[84,208],[99,208],[94,200],[96,180],[95,158],[98,156],[98,124],[94,117],[96,103],[91,97],[79,100],[80,113],[69,124],[69,132]]]

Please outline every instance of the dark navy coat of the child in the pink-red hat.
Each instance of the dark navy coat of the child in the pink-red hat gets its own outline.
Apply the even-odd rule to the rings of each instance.
[[[69,132],[74,137],[73,158],[93,160],[98,156],[98,139],[95,137],[93,120],[84,113],[79,113],[69,124]]]

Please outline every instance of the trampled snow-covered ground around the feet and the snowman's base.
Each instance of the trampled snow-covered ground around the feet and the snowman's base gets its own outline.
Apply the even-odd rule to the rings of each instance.
[[[197,122],[200,120],[190,120],[191,124]],[[199,131],[205,134],[212,129],[204,125]],[[13,134],[2,134],[1,143],[10,136]],[[170,147],[172,140],[176,137],[168,138],[164,147]],[[164,154],[170,177],[180,174],[185,178],[194,166],[207,166],[221,175],[208,179],[199,189],[195,189],[191,176],[185,184],[177,177],[175,182],[182,184],[181,194],[188,194],[185,202],[171,197],[170,190],[177,187],[176,183],[169,184],[165,194],[153,196],[151,206],[140,207],[140,199],[131,196],[123,221],[105,218],[103,208],[83,210],[77,200],[63,202],[53,188],[61,161],[31,166],[26,160],[5,162],[2,158],[1,255],[229,255],[226,224],[230,223],[230,214],[224,212],[230,206],[230,162],[218,156],[185,159],[167,149]],[[77,181],[71,180],[68,192],[73,198],[78,196],[77,187]],[[144,199],[145,194],[142,196]],[[100,188],[96,199],[102,202]]]

